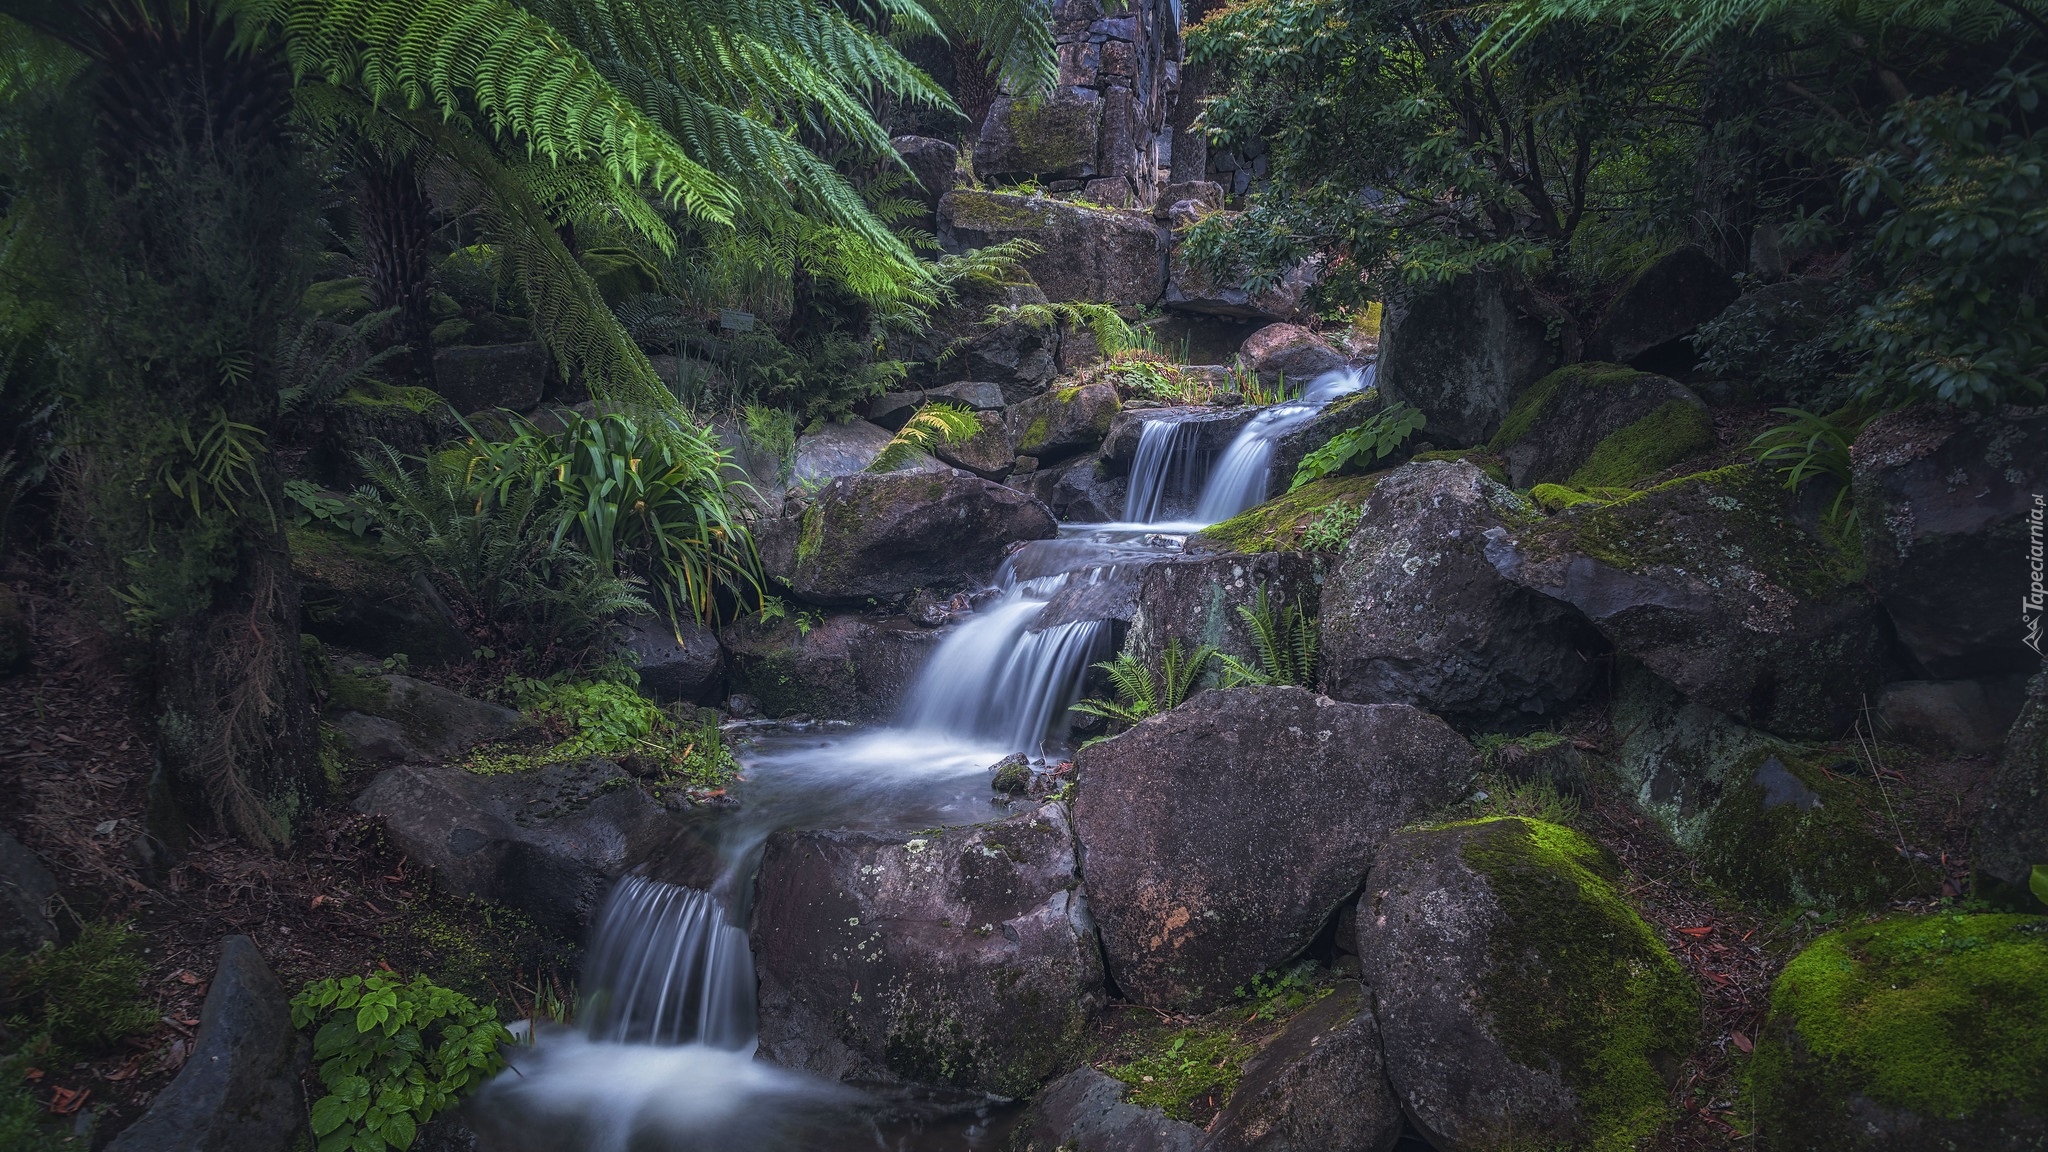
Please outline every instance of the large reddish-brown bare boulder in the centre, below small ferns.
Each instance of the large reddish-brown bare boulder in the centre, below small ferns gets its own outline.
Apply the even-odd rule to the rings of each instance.
[[[1380,842],[1477,767],[1434,715],[1303,689],[1198,693],[1083,748],[1073,822],[1110,976],[1139,1004],[1214,1006],[1307,947]]]

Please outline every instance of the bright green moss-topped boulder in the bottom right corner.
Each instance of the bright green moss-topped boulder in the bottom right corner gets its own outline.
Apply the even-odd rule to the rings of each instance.
[[[1890,916],[1806,947],[1749,1066],[1782,1152],[2048,1148],[2048,918]]]

